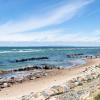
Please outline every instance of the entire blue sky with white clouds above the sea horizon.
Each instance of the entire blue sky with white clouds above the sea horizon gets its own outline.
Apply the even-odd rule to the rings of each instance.
[[[100,46],[100,0],[0,0],[0,46]]]

